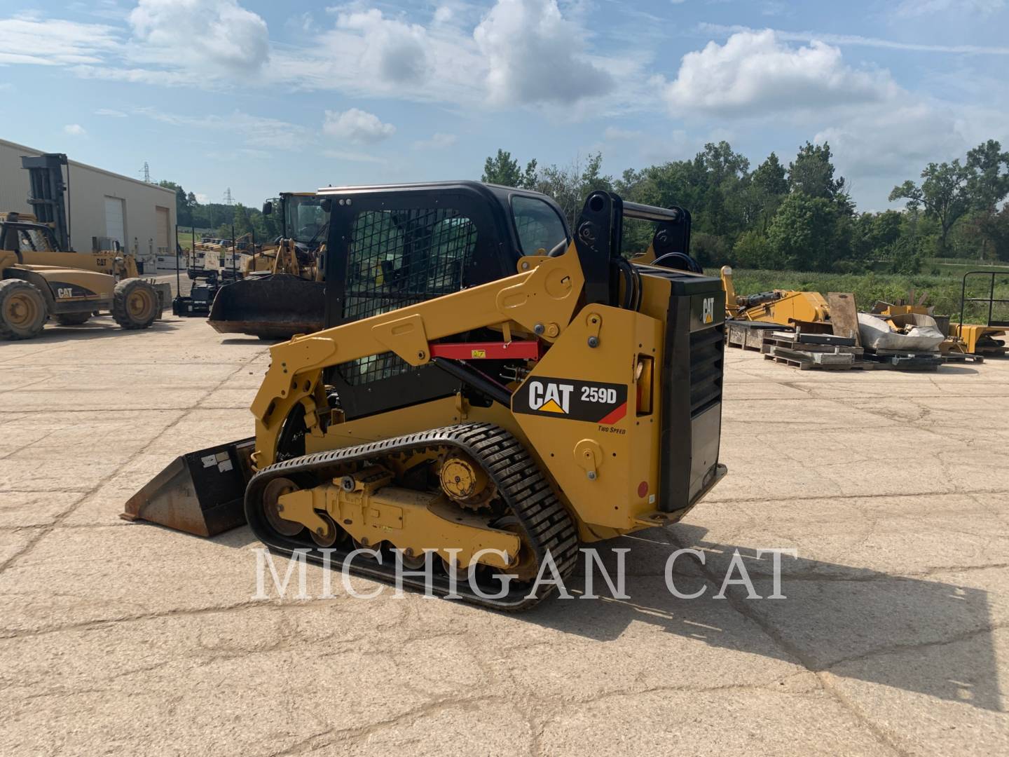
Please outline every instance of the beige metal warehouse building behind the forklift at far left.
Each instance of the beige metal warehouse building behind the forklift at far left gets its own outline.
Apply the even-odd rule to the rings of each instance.
[[[0,211],[30,213],[28,172],[22,155],[41,150],[0,139]],[[116,239],[153,271],[158,254],[174,254],[176,193],[93,166],[69,160],[64,169],[69,191],[71,245],[79,251],[108,249]]]

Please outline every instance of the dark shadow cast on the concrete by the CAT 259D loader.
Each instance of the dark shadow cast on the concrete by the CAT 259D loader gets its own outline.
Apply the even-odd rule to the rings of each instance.
[[[771,594],[773,557],[758,558],[750,547],[706,542],[705,533],[703,528],[679,524],[603,542],[598,545],[600,557],[614,577],[616,558],[611,550],[631,549],[625,587],[631,599],[610,599],[598,569],[593,571],[593,589],[606,599],[579,599],[585,585],[582,560],[568,583],[576,599],[551,600],[516,617],[603,642],[618,638],[632,624],[651,624],[712,646],[798,662],[814,672],[829,670],[842,677],[1001,711],[986,591],[803,559],[800,549],[796,560],[782,557],[781,591],[786,599],[748,600],[747,588],[734,585],[726,589],[727,599],[715,600],[737,549],[757,593]],[[680,546],[706,555],[703,568],[689,554],[674,563],[673,580],[681,593],[706,586],[698,599],[678,599],[666,585],[666,559]],[[739,623],[735,615],[726,615],[726,606],[746,620]],[[726,618],[732,624],[725,623]],[[971,644],[969,652],[946,653],[949,647],[940,646],[961,639]],[[880,653],[903,656],[883,659]]]

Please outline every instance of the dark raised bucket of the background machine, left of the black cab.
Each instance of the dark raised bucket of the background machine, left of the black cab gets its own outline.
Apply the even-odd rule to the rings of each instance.
[[[291,274],[250,276],[221,287],[208,322],[222,334],[290,339],[321,331],[326,285]]]

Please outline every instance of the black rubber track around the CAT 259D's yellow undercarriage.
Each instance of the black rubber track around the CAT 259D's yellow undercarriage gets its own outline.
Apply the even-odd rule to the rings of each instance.
[[[558,573],[566,581],[574,571],[578,557],[578,532],[575,525],[522,443],[504,429],[489,423],[446,426],[274,463],[260,470],[249,481],[245,490],[245,516],[253,534],[271,549],[291,554],[295,549],[305,549],[309,546],[312,548],[309,549],[308,558],[322,562],[322,553],[317,552],[311,543],[295,541],[269,529],[262,516],[261,502],[262,490],[270,479],[282,475],[310,474],[317,480],[323,480],[332,477],[332,473],[327,474],[329,468],[341,468],[347,463],[372,460],[411,450],[444,446],[464,450],[482,464],[497,485],[498,494],[525,529],[529,543],[536,554],[537,566],[542,565],[549,550]],[[331,565],[333,567],[342,565],[342,556],[339,553],[331,556]],[[384,581],[393,580],[396,574],[390,565],[363,562],[361,559],[355,559],[351,563],[351,568],[354,573]],[[550,577],[552,575],[548,570],[544,578]],[[422,589],[424,586],[422,581],[405,579],[404,582]],[[487,600],[472,593],[467,581],[459,581],[456,592],[466,602],[475,605],[495,610],[517,611],[526,610],[542,602],[556,591],[556,588],[553,584],[541,585],[537,594],[529,598],[525,596],[529,590],[527,587],[523,591],[513,590],[499,600]],[[441,596],[448,593],[448,578],[436,575],[433,591]],[[488,592],[493,592],[493,589]]]

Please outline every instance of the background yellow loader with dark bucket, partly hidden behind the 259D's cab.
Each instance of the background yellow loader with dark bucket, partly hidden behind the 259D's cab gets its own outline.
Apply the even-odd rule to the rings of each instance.
[[[314,193],[288,192],[263,205],[278,211],[276,245],[246,259],[241,279],[218,290],[208,323],[222,334],[288,339],[323,328],[327,214]]]

